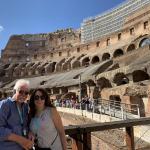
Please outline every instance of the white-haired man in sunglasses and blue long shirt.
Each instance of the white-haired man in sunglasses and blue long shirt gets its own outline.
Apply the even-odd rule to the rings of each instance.
[[[0,149],[29,150],[33,142],[27,139],[29,81],[20,79],[14,86],[12,98],[0,103]]]

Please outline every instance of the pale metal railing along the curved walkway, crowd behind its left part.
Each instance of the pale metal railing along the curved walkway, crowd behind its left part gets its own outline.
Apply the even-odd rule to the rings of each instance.
[[[55,103],[55,106],[80,109],[81,111],[85,110],[87,112],[97,114],[105,114],[122,120],[140,118],[140,109],[138,104],[121,103],[115,100],[98,99],[89,101],[88,103],[86,101],[84,103],[66,101]]]

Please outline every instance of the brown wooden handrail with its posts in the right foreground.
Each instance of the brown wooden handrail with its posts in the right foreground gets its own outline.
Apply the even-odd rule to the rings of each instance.
[[[87,147],[91,149],[91,132],[125,128],[126,147],[128,150],[135,150],[133,127],[148,124],[150,124],[150,117],[143,117],[132,120],[65,126],[65,133],[76,141],[77,149],[86,150]]]

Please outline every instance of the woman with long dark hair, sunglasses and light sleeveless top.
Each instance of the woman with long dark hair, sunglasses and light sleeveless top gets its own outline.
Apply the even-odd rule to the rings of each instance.
[[[61,118],[44,89],[36,89],[30,97],[30,130],[37,139],[38,150],[66,150]]]

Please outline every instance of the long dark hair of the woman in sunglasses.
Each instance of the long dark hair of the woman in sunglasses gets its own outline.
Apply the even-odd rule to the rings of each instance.
[[[29,106],[30,106],[30,112],[29,112],[29,117],[34,117],[35,116],[35,113],[36,113],[36,108],[35,108],[35,104],[34,104],[34,98],[35,98],[35,93],[39,91],[42,93],[42,95],[45,97],[45,106],[46,107],[54,107],[50,101],[50,98],[48,96],[48,93],[42,89],[42,88],[38,88],[38,89],[35,89],[33,91],[33,93],[31,94],[31,97],[30,97],[30,100],[29,100]],[[30,119],[31,119],[30,118]]]

